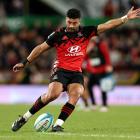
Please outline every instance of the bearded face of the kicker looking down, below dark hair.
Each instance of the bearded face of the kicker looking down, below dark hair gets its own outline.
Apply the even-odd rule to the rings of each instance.
[[[67,31],[69,32],[78,31],[79,26],[80,26],[80,19],[79,18],[72,19],[72,18],[66,17],[66,26],[67,26]]]

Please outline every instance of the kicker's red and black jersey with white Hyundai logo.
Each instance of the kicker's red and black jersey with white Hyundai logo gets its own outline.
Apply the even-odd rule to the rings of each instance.
[[[89,40],[96,35],[96,26],[79,27],[77,32],[67,32],[66,28],[61,28],[49,35],[46,43],[56,48],[57,67],[81,72]]]

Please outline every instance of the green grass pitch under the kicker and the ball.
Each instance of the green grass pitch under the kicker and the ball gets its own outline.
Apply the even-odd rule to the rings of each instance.
[[[11,124],[29,105],[0,105],[0,140],[138,140],[140,139],[140,107],[110,107],[109,112],[75,110],[64,124],[63,133],[35,132],[33,124],[38,115],[50,112],[55,119],[60,106],[48,106],[38,112],[18,132]]]

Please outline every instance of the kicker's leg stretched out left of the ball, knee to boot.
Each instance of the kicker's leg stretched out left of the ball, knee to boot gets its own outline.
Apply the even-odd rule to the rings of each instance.
[[[23,115],[19,116],[19,118],[12,124],[12,130],[19,130],[28,120],[32,117],[36,112],[42,109],[51,101],[55,100],[59,97],[61,92],[63,91],[63,85],[59,82],[52,82],[49,84],[48,92],[40,96],[33,106]]]

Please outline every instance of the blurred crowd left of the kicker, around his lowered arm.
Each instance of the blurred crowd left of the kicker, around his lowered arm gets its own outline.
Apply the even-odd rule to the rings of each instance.
[[[28,29],[24,26],[16,33],[13,33],[7,26],[0,27],[1,83],[34,83],[31,81],[31,79],[36,79],[34,75],[37,76],[37,81],[39,81],[39,76],[42,71],[45,70],[45,73],[49,74],[47,71],[50,71],[53,56],[55,55],[54,50],[42,54],[35,64],[25,69],[24,72],[15,74],[12,72],[12,67],[25,59],[31,50],[36,45],[42,43],[52,30],[53,27],[51,27],[51,25],[48,27],[35,25],[32,29]]]

